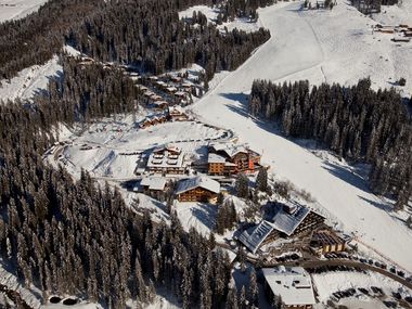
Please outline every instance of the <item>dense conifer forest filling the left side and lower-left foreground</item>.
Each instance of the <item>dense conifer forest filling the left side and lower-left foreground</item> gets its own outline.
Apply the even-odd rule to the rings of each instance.
[[[117,70],[63,63],[64,81],[47,96],[0,104],[0,255],[9,270],[44,299],[69,294],[125,308],[133,298],[144,307],[164,286],[184,308],[223,308],[231,267],[213,239],[183,232],[173,214],[170,227],[154,224],[87,172],[75,182],[43,163],[59,123],[136,108]]]

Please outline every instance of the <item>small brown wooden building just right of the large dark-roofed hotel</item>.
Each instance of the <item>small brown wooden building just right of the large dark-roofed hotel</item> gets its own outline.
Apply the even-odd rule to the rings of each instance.
[[[331,230],[320,230],[313,232],[310,247],[314,253],[326,254],[343,252],[346,249],[347,242]]]

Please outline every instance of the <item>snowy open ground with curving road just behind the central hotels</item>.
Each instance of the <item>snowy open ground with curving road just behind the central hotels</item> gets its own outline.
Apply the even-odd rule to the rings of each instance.
[[[144,118],[142,111],[138,118]],[[116,120],[103,119],[82,134],[65,136],[70,142],[50,152],[51,162],[65,165],[79,176],[81,168],[94,177],[111,179],[136,178],[134,169],[142,151],[171,143],[184,153],[199,156],[210,140],[229,137],[227,131],[195,121],[166,123],[146,129],[136,128],[131,115]],[[190,156],[190,155],[189,155]]]

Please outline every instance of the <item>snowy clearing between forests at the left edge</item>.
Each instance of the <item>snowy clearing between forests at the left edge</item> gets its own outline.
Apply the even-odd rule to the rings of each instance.
[[[0,101],[31,99],[35,94],[48,88],[51,78],[62,75],[63,68],[59,57],[54,55],[43,65],[34,65],[21,70],[16,77],[0,80]]]

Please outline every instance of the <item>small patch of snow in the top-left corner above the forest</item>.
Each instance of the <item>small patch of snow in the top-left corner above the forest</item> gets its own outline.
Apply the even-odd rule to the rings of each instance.
[[[36,12],[47,0],[0,0],[0,23],[23,18]]]

